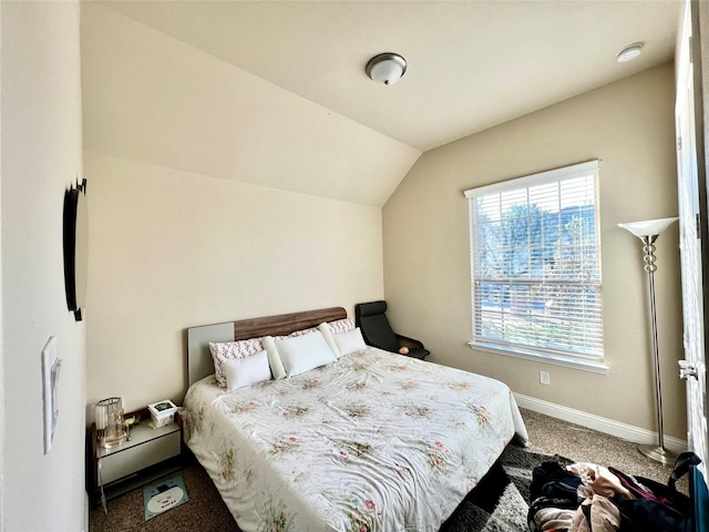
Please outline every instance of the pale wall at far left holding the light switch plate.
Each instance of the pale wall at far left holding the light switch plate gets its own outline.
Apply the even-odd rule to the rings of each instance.
[[[84,526],[84,324],[66,309],[64,190],[82,176],[78,2],[1,2],[0,530]],[[56,337],[59,418],[43,454],[40,354]]]

